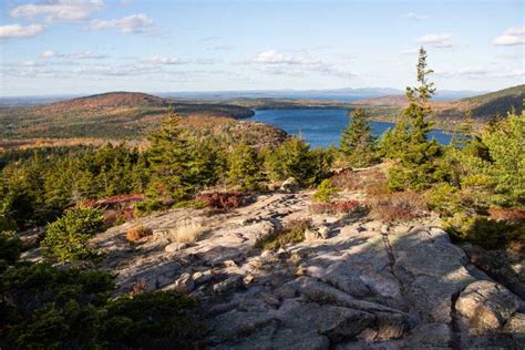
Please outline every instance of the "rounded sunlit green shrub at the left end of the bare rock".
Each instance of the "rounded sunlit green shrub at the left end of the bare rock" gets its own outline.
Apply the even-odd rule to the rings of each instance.
[[[93,254],[90,238],[103,228],[100,209],[73,208],[50,224],[42,240],[48,256],[59,261],[86,259]]]

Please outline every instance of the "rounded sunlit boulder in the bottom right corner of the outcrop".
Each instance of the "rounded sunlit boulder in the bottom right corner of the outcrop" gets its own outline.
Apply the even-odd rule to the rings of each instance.
[[[455,309],[469,320],[474,332],[502,328],[518,307],[519,298],[488,280],[469,285],[455,303]]]

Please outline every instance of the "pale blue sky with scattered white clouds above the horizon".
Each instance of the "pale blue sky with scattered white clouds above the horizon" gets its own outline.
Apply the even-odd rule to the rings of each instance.
[[[0,95],[524,83],[525,1],[0,0]]]

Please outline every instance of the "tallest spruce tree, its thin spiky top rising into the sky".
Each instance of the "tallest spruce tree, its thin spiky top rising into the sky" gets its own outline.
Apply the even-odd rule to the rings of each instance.
[[[435,140],[428,141],[428,134],[432,131],[432,123],[428,121],[431,113],[429,100],[435,93],[435,87],[434,83],[428,80],[428,75],[433,71],[426,68],[426,51],[423,48],[420,49],[416,68],[420,85],[406,87],[409,105],[403,111],[403,122],[400,125],[403,130],[399,132],[401,138],[395,140],[400,148],[394,154],[400,162],[389,173],[390,187],[398,191],[421,191],[443,177],[435,162],[441,147]]]

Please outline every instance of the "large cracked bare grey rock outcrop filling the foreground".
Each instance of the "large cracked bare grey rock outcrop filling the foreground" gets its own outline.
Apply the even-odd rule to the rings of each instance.
[[[142,278],[148,289],[195,297],[210,349],[523,344],[523,300],[476,269],[435,222],[388,226],[367,216],[313,214],[310,196],[261,195],[214,215],[172,210],[111,228],[94,243],[122,291]],[[203,234],[167,253],[163,233],[187,218]],[[311,219],[310,239],[258,248],[298,218]],[[130,245],[124,236],[136,224],[158,234]]]

